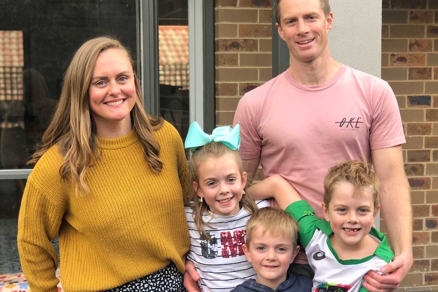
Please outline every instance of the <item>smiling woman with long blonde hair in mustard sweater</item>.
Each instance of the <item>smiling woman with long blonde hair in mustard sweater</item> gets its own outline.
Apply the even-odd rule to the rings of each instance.
[[[30,163],[18,220],[32,291],[184,291],[190,179],[181,138],[145,113],[129,52],[85,42]]]

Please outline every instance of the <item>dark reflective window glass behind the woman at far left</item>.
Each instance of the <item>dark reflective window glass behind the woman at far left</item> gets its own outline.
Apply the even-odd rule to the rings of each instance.
[[[7,17],[0,18],[0,169],[28,168],[67,66],[83,42],[112,36],[140,59],[138,5],[138,0],[2,0]],[[21,271],[17,216],[26,182],[4,178],[0,175],[0,274]]]

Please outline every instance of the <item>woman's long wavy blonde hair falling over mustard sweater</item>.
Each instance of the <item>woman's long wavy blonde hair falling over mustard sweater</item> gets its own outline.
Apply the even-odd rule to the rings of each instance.
[[[54,117],[43,135],[38,150],[29,160],[35,164],[50,147],[58,145],[64,157],[59,169],[63,180],[71,175],[76,193],[89,193],[84,181],[93,157],[100,159],[96,124],[91,117],[88,88],[99,54],[107,49],[119,49],[127,54],[134,70],[134,62],[129,51],[120,42],[109,37],[99,37],[85,42],[75,53],[64,78],[64,86]],[[134,74],[135,75],[135,74]],[[143,108],[140,83],[134,76],[136,102],[131,111],[131,123],[151,170],[160,173],[163,163],[159,158],[160,145],[155,140],[154,131],[163,125],[163,119],[147,115]]]

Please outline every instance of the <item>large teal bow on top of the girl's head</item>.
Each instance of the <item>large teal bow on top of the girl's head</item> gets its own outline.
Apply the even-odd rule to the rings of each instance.
[[[213,129],[211,135],[202,131],[198,122],[190,124],[189,132],[185,137],[184,148],[190,148],[193,152],[196,148],[204,146],[211,142],[221,142],[233,150],[239,150],[240,146],[240,126],[237,124],[234,128],[230,126],[221,126]]]

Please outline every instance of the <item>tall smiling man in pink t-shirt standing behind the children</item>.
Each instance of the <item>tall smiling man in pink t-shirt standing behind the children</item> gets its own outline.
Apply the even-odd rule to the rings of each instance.
[[[382,268],[386,275],[370,271],[363,285],[371,292],[392,291],[413,262],[410,186],[401,148],[405,139],[394,93],[387,82],[330,56],[327,34],[333,14],[328,0],[276,0],[274,13],[290,66],[246,93],[237,107],[234,124],[240,124],[239,152],[248,181],[261,163],[265,177],[283,175],[323,218],[328,169],[361,160],[361,154],[372,160],[395,258]],[[199,276],[193,266],[186,267],[184,285],[196,291],[190,278]],[[295,264],[294,272],[305,267]]]

